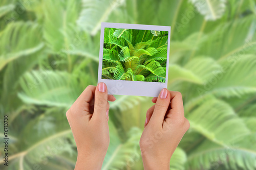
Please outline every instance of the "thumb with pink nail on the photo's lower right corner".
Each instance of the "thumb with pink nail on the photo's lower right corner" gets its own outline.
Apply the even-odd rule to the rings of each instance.
[[[158,95],[155,109],[153,111],[151,122],[155,125],[159,124],[162,126],[164,116],[170,104],[170,92],[163,88]]]

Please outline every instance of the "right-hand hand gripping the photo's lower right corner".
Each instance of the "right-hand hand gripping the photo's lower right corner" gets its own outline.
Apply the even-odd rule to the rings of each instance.
[[[181,93],[162,89],[156,103],[146,113],[145,129],[140,138],[144,169],[169,169],[170,158],[189,129],[184,117]]]

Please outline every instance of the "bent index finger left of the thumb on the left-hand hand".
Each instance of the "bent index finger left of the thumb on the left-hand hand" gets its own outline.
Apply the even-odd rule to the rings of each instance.
[[[84,89],[67,113],[72,113],[72,117],[77,117],[76,115],[91,114],[90,105],[94,98],[95,89],[96,86],[92,85],[89,85]]]

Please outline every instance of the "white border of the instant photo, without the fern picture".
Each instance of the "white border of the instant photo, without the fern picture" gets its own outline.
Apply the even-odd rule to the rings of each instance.
[[[168,32],[165,82],[102,79],[102,61],[103,61],[104,30],[105,30],[105,28],[127,29],[127,30],[129,30],[129,29],[132,29],[132,30],[155,30],[155,31],[160,31],[160,32],[164,31],[166,34]],[[153,39],[153,37],[152,37],[152,39]],[[168,65],[169,65],[168,64],[169,63],[169,45],[170,45],[169,43],[170,43],[170,27],[102,22],[101,23],[101,32],[100,32],[98,83],[104,82],[106,84],[106,86],[108,87],[108,94],[140,95],[140,96],[157,97],[162,88],[167,88]]]

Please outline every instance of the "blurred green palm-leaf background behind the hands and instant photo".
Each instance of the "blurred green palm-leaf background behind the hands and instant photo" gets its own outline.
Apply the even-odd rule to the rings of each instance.
[[[255,0],[1,0],[0,134],[8,115],[10,140],[0,169],[74,169],[66,111],[97,84],[101,22],[172,27],[168,89],[182,92],[190,129],[171,169],[256,169],[255,14]],[[102,169],[143,169],[153,103],[116,98]]]

